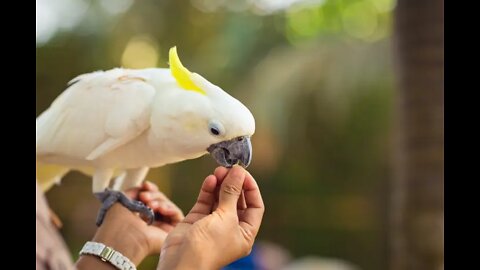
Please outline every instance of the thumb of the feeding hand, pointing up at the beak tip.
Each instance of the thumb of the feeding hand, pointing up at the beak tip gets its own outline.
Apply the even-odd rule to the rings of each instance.
[[[220,187],[218,208],[223,210],[237,209],[237,202],[242,193],[243,182],[245,181],[245,169],[235,165],[228,172]]]

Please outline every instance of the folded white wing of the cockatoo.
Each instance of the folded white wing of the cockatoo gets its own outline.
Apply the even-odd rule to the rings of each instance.
[[[150,126],[155,88],[139,72],[81,75],[37,118],[37,156],[94,160]]]

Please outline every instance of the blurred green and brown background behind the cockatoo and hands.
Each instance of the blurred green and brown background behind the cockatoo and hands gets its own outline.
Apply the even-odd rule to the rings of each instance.
[[[37,0],[36,27],[37,115],[75,76],[167,68],[172,46],[251,109],[266,213],[256,268],[228,269],[443,269],[443,1]],[[215,167],[147,179],[188,212]],[[47,193],[74,259],[90,190],[73,172]]]

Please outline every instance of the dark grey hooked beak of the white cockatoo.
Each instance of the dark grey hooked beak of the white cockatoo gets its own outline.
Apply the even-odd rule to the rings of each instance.
[[[250,136],[241,136],[228,141],[210,145],[207,151],[218,164],[227,168],[240,163],[246,168],[252,161],[252,142]]]

